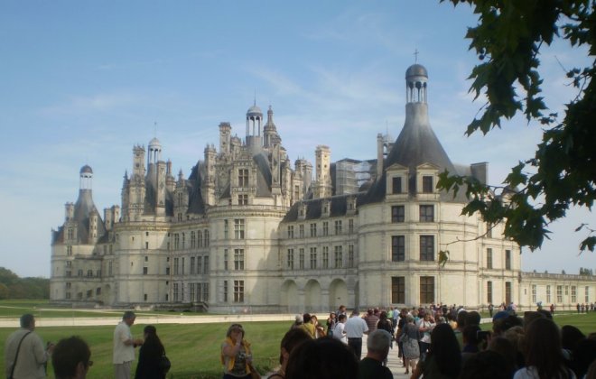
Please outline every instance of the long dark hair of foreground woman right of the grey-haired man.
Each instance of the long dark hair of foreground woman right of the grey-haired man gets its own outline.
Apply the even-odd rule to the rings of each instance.
[[[441,374],[456,378],[460,374],[460,344],[449,324],[439,324],[431,333],[431,352]]]

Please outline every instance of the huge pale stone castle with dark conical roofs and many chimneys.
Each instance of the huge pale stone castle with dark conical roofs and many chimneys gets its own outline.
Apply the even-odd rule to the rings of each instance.
[[[462,216],[465,197],[436,189],[445,170],[486,182],[488,163],[451,162],[430,125],[427,91],[426,69],[410,66],[404,127],[395,142],[378,134],[368,161],[331,162],[319,145],[314,172],[304,159],[292,164],[273,110],[265,121],[255,104],[245,139],[219,124],[218,148],[208,144],[188,178],[174,177],[156,138],[147,150],[135,146],[121,207],[103,217],[85,165],[79,199],[52,231],[51,300],[293,313],[593,301],[590,278],[522,273],[502,225]]]

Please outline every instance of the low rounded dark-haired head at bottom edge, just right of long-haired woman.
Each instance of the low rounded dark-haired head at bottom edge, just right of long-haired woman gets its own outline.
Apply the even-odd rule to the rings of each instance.
[[[485,350],[471,355],[461,367],[460,379],[508,379],[513,373],[505,370],[507,362],[495,351]]]

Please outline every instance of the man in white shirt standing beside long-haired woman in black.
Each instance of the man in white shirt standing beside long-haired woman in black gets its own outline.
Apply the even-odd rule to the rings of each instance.
[[[135,312],[126,310],[122,321],[114,330],[114,373],[116,379],[130,379],[130,370],[135,360],[135,347],[143,345],[143,339],[134,339],[130,327],[135,323]]]

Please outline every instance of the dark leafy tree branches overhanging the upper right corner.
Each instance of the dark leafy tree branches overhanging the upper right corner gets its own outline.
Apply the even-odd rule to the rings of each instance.
[[[441,2],[445,0],[440,0]],[[544,44],[562,39],[573,48],[587,47],[596,55],[596,4],[594,0],[449,0],[468,3],[479,15],[466,38],[481,63],[470,74],[470,92],[483,94],[486,104],[468,125],[466,134],[488,134],[502,119],[524,114],[537,121],[544,133],[534,157],[511,169],[503,186],[480,183],[471,177],[442,172],[438,187],[465,189],[469,203],[462,214],[479,212],[490,224],[505,223],[504,235],[531,250],[539,248],[554,220],[572,206],[591,209],[596,197],[596,64],[567,70],[577,97],[565,105],[563,119],[549,112],[541,95],[540,60]],[[522,93],[523,95],[519,95]],[[587,230],[580,250],[593,252],[594,230]]]

